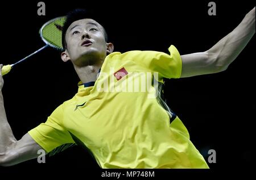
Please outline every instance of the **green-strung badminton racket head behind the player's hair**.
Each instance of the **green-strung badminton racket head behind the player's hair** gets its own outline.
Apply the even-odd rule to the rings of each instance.
[[[44,23],[39,31],[40,37],[42,38],[44,43],[60,51],[63,51],[61,34],[65,20],[66,16],[60,16],[51,19],[48,22]]]

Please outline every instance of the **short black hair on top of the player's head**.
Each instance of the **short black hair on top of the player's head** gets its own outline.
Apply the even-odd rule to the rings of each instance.
[[[68,30],[68,27],[73,22],[80,19],[93,19],[93,20],[96,20],[96,22],[98,22],[99,24],[101,24],[101,27],[104,31],[105,40],[106,42],[108,42],[108,34],[106,33],[105,28],[102,26],[102,24],[104,24],[102,17],[99,18],[99,16],[97,16],[97,13],[94,13],[92,10],[75,9],[73,11],[68,12],[68,15],[66,16],[66,20],[62,28],[61,42],[64,50],[67,48],[65,35]]]

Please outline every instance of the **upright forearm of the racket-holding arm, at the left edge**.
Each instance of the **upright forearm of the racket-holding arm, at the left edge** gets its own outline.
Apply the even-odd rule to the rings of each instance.
[[[0,157],[4,155],[6,148],[16,141],[10,124],[7,122],[5,107],[3,105],[3,95],[0,90]]]

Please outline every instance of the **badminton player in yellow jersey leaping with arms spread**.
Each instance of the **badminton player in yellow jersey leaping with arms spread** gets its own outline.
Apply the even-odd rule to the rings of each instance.
[[[163,101],[164,78],[221,72],[254,33],[255,7],[208,51],[180,56],[171,45],[170,54],[120,53],[113,52],[114,45],[93,16],[72,11],[63,27],[61,58],[72,62],[81,80],[78,92],[20,140],[7,123],[1,93],[0,165],[35,158],[39,149],[52,153],[77,144],[101,168],[208,168],[181,120]]]

